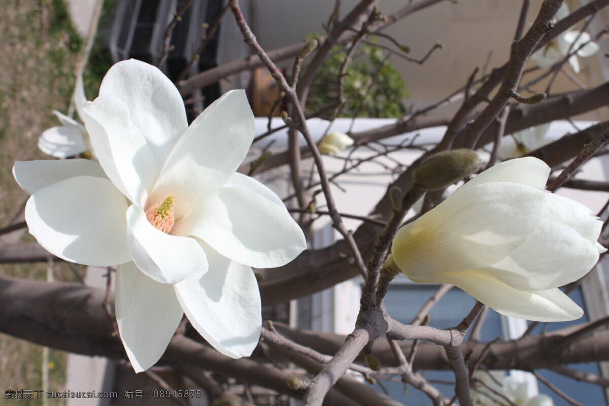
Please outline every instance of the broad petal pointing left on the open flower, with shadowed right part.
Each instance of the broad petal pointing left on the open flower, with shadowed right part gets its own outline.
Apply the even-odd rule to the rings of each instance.
[[[102,178],[69,178],[35,192],[26,222],[40,245],[78,264],[107,267],[131,261],[125,239],[127,200]]]

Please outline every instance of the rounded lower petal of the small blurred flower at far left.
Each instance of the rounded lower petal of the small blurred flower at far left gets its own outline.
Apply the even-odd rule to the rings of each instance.
[[[55,158],[68,158],[89,149],[83,141],[82,130],[75,125],[62,125],[44,130],[38,138],[38,148],[46,155]]]

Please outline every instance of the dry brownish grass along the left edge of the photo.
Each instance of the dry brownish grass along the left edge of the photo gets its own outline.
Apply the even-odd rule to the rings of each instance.
[[[63,1],[0,0],[0,7],[0,226],[5,226],[27,198],[13,180],[13,163],[46,158],[37,148],[38,136],[58,125],[52,110],[68,108],[81,41]],[[46,264],[0,267],[2,275],[33,279],[46,278],[46,271]],[[58,267],[59,278],[70,275]],[[41,346],[0,335],[0,404],[41,404],[4,399],[7,389],[41,389],[41,354]],[[50,388],[59,390],[65,383],[66,355],[51,351],[49,361]],[[49,404],[62,402],[51,399]]]

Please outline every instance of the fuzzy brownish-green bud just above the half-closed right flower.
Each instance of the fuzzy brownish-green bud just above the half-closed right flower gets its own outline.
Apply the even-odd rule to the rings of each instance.
[[[415,171],[415,183],[428,191],[444,189],[468,177],[480,167],[478,154],[469,149],[438,152]]]

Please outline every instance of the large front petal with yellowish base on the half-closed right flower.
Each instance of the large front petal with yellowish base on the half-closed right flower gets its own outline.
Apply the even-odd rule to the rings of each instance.
[[[537,229],[549,195],[510,182],[484,183],[457,191],[398,230],[393,258],[407,276],[496,264]]]

